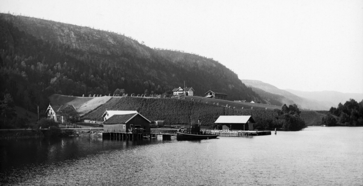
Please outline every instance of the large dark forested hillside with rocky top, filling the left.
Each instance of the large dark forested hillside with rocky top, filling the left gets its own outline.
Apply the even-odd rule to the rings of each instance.
[[[210,88],[228,100],[265,103],[237,75],[213,59],[150,48],[109,31],[11,14],[0,14],[0,91],[15,105],[40,113],[54,93],[109,95],[170,94],[192,86],[196,96]]]

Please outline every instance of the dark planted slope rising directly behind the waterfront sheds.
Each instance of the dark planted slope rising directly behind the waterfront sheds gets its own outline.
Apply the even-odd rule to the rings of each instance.
[[[137,110],[150,121],[164,120],[164,124],[189,124],[201,119],[203,125],[209,126],[214,125],[220,115],[252,115],[258,119],[271,120],[277,118],[273,110],[233,109],[190,100],[142,97],[113,97],[82,118],[103,121],[102,114],[106,109]]]

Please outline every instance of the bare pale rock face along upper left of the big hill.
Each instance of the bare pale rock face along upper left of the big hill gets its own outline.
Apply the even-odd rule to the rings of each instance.
[[[124,35],[32,17],[4,15],[4,18],[36,38],[62,43],[74,49],[97,54],[122,55],[125,48],[132,48],[139,55],[150,57],[137,41]]]

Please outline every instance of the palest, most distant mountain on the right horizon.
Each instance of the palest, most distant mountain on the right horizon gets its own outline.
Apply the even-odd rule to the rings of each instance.
[[[337,107],[339,103],[344,104],[350,98],[354,99],[357,102],[363,100],[363,94],[359,93],[341,93],[337,91],[327,91],[327,90],[318,91],[318,92],[305,92],[292,89],[285,89],[285,90],[303,98],[325,102],[326,106],[329,107],[332,106]]]

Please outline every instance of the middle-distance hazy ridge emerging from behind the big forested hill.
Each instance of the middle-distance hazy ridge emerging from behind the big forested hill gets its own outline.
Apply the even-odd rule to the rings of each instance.
[[[241,81],[247,86],[259,88],[266,92],[283,96],[283,97],[279,98],[279,101],[281,101],[282,103],[284,103],[286,105],[296,103],[302,109],[311,109],[311,110],[329,110],[330,109],[330,107],[327,106],[323,102],[299,97],[293,93],[290,93],[286,90],[281,90],[281,89],[277,88],[276,86],[273,86],[268,83],[264,83],[262,81],[258,81],[258,80],[241,80]]]

